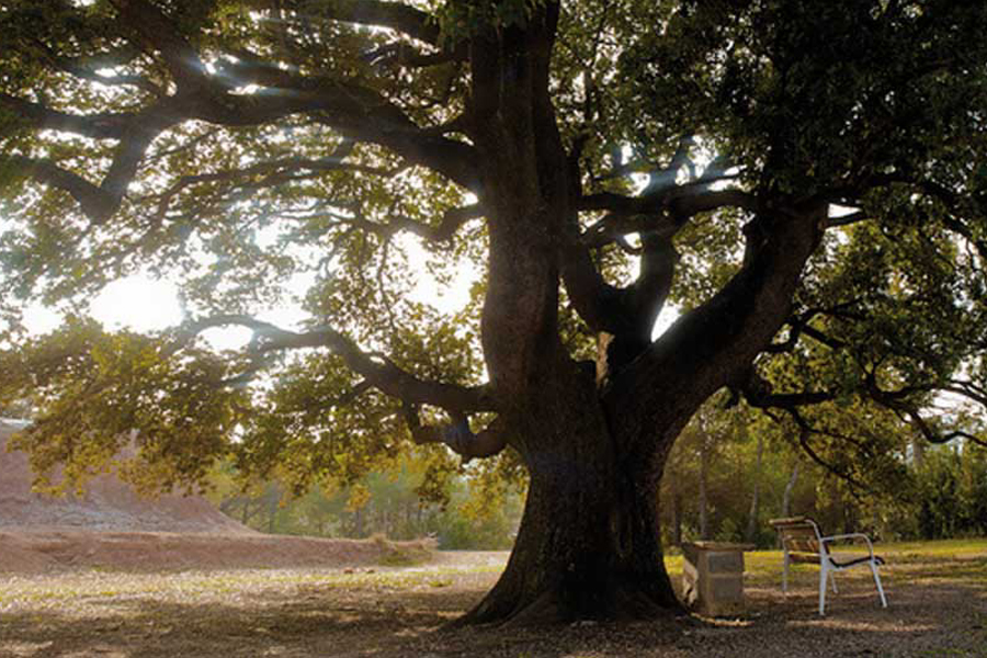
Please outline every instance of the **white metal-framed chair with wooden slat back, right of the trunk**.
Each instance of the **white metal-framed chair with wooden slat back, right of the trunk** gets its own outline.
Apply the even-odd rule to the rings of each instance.
[[[874,575],[874,583],[877,586],[877,594],[881,597],[881,605],[887,608],[887,599],[884,597],[884,588],[881,586],[881,576],[877,567],[884,564],[884,559],[874,555],[874,546],[871,538],[859,532],[822,536],[819,526],[807,517],[792,517],[789,519],[772,519],[769,521],[779,533],[784,549],[784,571],[782,574],[782,591],[789,591],[789,565],[792,563],[808,563],[819,565],[819,614],[826,614],[826,581],[829,580],[832,591],[837,592],[833,574],[851,567],[869,566]],[[867,554],[860,556],[836,556],[830,551],[830,544],[863,540],[867,545]]]

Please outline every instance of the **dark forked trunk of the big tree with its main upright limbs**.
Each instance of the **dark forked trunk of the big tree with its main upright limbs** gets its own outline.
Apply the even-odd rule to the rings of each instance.
[[[818,202],[751,220],[741,271],[653,344],[674,249],[668,236],[643,237],[642,276],[619,291],[580,246],[578,157],[566,152],[547,93],[558,18],[557,3],[538,4],[523,26],[491,30],[469,50],[467,131],[489,236],[480,321],[487,388],[531,479],[507,568],[460,624],[682,610],[660,544],[663,465],[689,418],[749,370],[787,317],[825,217]],[[588,326],[615,337],[601,351],[605,367],[572,362],[563,345],[561,271]]]

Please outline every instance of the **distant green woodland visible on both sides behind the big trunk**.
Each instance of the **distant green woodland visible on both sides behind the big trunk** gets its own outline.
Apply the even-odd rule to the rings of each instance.
[[[859,460],[842,444],[818,446],[816,462],[755,410],[722,407],[722,399],[707,405],[669,458],[659,496],[667,546],[715,540],[768,548],[776,543],[768,521],[799,514],[827,532],[865,530],[882,541],[987,536],[983,446],[927,445],[890,433],[884,454],[847,472]],[[227,470],[212,498],[231,518],[272,534],[433,536],[441,549],[510,548],[524,480],[464,472],[440,484],[439,496],[422,498],[427,470],[428,457],[410,454],[349,486],[317,485],[300,496],[276,479],[240,490]]]

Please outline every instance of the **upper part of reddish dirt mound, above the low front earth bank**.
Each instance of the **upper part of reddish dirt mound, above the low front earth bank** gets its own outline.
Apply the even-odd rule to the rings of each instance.
[[[35,494],[27,456],[7,451],[8,439],[23,427],[22,421],[0,419],[0,531],[254,533],[202,497],[140,497],[113,474],[90,480],[81,497]]]

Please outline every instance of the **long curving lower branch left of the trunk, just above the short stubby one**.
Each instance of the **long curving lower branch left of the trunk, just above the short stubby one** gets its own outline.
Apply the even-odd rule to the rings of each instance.
[[[298,333],[250,316],[220,315],[180,327],[172,350],[181,349],[206,329],[228,326],[253,330],[250,351],[257,355],[303,348],[328,348],[343,360],[347,367],[361,375],[368,384],[385,395],[407,404],[433,405],[461,413],[494,410],[485,386],[458,386],[420,379],[385,356],[362,351],[347,336],[330,327],[319,327]]]

